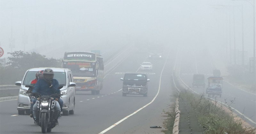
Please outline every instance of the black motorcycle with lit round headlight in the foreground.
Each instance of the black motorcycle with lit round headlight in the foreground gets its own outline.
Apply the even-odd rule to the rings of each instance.
[[[31,87],[31,85],[26,85],[26,87]],[[59,89],[63,86],[59,86]],[[30,93],[31,96],[39,96],[38,101],[36,101],[36,106],[39,109],[39,125],[41,126],[42,133],[51,132],[52,128],[56,126],[53,114],[55,102],[54,97],[61,97],[62,94],[52,94],[52,95],[41,95],[40,93]]]

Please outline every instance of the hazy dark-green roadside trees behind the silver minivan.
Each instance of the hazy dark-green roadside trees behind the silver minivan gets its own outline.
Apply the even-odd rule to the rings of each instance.
[[[22,80],[25,72],[37,67],[61,67],[61,59],[46,58],[36,52],[15,51],[8,57],[9,62],[0,68],[0,85],[14,84]]]

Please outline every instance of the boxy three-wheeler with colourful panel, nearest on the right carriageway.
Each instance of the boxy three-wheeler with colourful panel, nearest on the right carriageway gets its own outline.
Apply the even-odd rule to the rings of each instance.
[[[208,97],[210,95],[219,95],[221,97],[222,94],[222,77],[209,77],[208,78],[208,87],[206,88],[206,93]]]

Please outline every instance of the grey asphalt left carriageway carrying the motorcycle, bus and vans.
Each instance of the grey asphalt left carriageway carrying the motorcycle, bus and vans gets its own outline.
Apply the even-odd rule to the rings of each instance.
[[[169,54],[169,55],[168,55]],[[175,102],[171,85],[171,73],[175,50],[165,52],[162,60],[148,60],[148,53],[131,52],[122,63],[104,78],[99,95],[76,92],[74,115],[62,116],[59,126],[51,133],[162,133],[164,112]],[[124,72],[138,71],[140,64],[150,61],[153,71],[148,71],[148,97],[142,95],[122,96]],[[0,133],[41,133],[28,115],[18,115],[17,100],[0,101]]]

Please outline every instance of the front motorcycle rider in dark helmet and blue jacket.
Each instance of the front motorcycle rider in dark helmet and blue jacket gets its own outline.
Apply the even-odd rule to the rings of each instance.
[[[59,82],[58,80],[53,78],[54,76],[54,72],[52,69],[47,68],[43,71],[43,79],[39,79],[33,89],[33,93],[40,93],[41,95],[51,95],[51,94],[60,94],[60,89],[58,89],[59,87]],[[55,107],[54,109],[54,113],[53,113],[53,119],[54,119],[54,124],[59,124],[58,122],[58,117],[60,115],[60,104],[58,102],[58,100],[60,98],[54,97],[52,98],[55,102]],[[37,101],[39,100],[39,98],[37,98]],[[38,108],[36,106],[36,104],[34,104],[33,106],[33,115],[34,115],[34,119],[35,119],[35,124],[39,124],[39,111]]]

